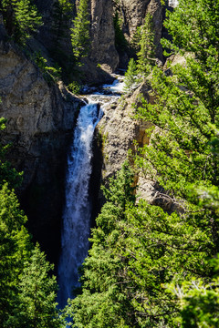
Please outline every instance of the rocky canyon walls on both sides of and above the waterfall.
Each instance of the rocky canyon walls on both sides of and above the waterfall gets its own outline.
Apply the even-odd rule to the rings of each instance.
[[[53,47],[53,24],[50,12],[54,1],[36,0],[36,6],[44,17],[44,26],[27,43],[30,51],[40,50],[48,62],[49,50]],[[176,2],[169,1],[169,6]],[[127,67],[129,52],[120,52],[115,47],[113,12],[118,10],[123,18],[122,32],[128,41],[134,36],[137,26],[141,26],[147,12],[153,19],[156,55],[162,62],[162,20],[164,7],[160,0],[121,0],[114,4],[111,0],[91,0],[90,11],[90,49],[89,56],[83,60],[83,83],[99,85],[111,82],[120,67]],[[71,26],[69,19],[68,26]],[[71,51],[69,34],[62,41],[62,51]],[[61,80],[49,83],[33,60],[8,38],[2,17],[0,17],[0,116],[7,119],[5,131],[1,133],[3,144],[10,143],[7,159],[19,171],[24,171],[22,186],[17,190],[22,208],[28,217],[28,227],[34,240],[39,241],[47,252],[49,260],[57,263],[60,250],[60,227],[65,199],[65,172],[67,156],[75,128],[78,111],[84,105],[81,97],[73,95]],[[124,103],[110,105],[99,123],[94,139],[106,142],[100,149],[97,159],[100,168],[94,184],[107,179],[120,169],[127,157],[128,149],[133,148],[133,140],[147,143],[145,126],[131,119],[131,104],[137,101],[142,88],[133,96],[127,96]],[[147,90],[144,90],[145,95]],[[105,137],[104,137],[105,136]],[[102,154],[100,155],[102,150]],[[101,158],[103,161],[101,162]],[[100,162],[99,162],[100,161]],[[101,177],[101,179],[100,179]],[[99,180],[97,180],[99,179]],[[153,186],[141,183],[147,197],[152,197]],[[145,196],[145,197],[146,197]],[[102,196],[96,198],[96,208],[103,202]]]

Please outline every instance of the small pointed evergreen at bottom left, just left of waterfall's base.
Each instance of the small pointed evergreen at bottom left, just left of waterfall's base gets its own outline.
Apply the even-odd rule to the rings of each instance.
[[[30,258],[24,264],[19,279],[18,306],[12,324],[15,327],[55,328],[64,327],[57,313],[57,282],[49,272],[54,266],[46,261],[46,255],[36,244]]]

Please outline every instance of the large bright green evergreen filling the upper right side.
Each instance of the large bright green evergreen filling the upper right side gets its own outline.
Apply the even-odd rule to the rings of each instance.
[[[217,25],[214,17],[218,15],[219,4],[209,5],[210,2],[201,0],[189,4],[187,0],[181,1],[166,22],[175,41],[172,47],[177,49],[177,40],[183,39],[181,52],[189,54],[186,56],[186,66],[172,67],[172,77],[166,77],[160,69],[154,68],[150,81],[155,104],[144,101],[139,110],[141,118],[150,120],[160,128],[159,133],[153,134],[151,146],[143,151],[145,158],[149,159],[143,162],[144,169],[155,169],[155,179],[165,190],[169,190],[172,197],[195,205],[195,199],[190,197],[189,185],[217,185],[219,178],[218,159],[212,154],[209,143],[214,135],[210,124],[218,126],[219,95],[217,37],[213,34],[210,41],[209,30],[214,31]],[[182,12],[183,17],[187,17],[183,21],[179,15]],[[184,35],[190,21],[196,23],[197,19],[197,26],[191,24],[190,34]],[[214,221],[214,213],[208,215],[213,215],[208,220]],[[216,251],[218,238],[214,224]]]

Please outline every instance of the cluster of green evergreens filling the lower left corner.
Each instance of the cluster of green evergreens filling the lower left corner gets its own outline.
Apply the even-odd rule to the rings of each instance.
[[[5,119],[0,119],[0,129]],[[0,157],[5,148],[0,148]],[[39,246],[33,247],[26,231],[26,216],[14,190],[16,170],[0,162],[0,326],[1,328],[65,327],[57,315],[53,269]]]

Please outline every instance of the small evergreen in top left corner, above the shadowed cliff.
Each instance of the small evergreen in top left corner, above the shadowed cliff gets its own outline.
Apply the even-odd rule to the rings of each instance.
[[[2,0],[1,12],[9,36],[21,45],[42,26],[42,18],[31,0]]]

